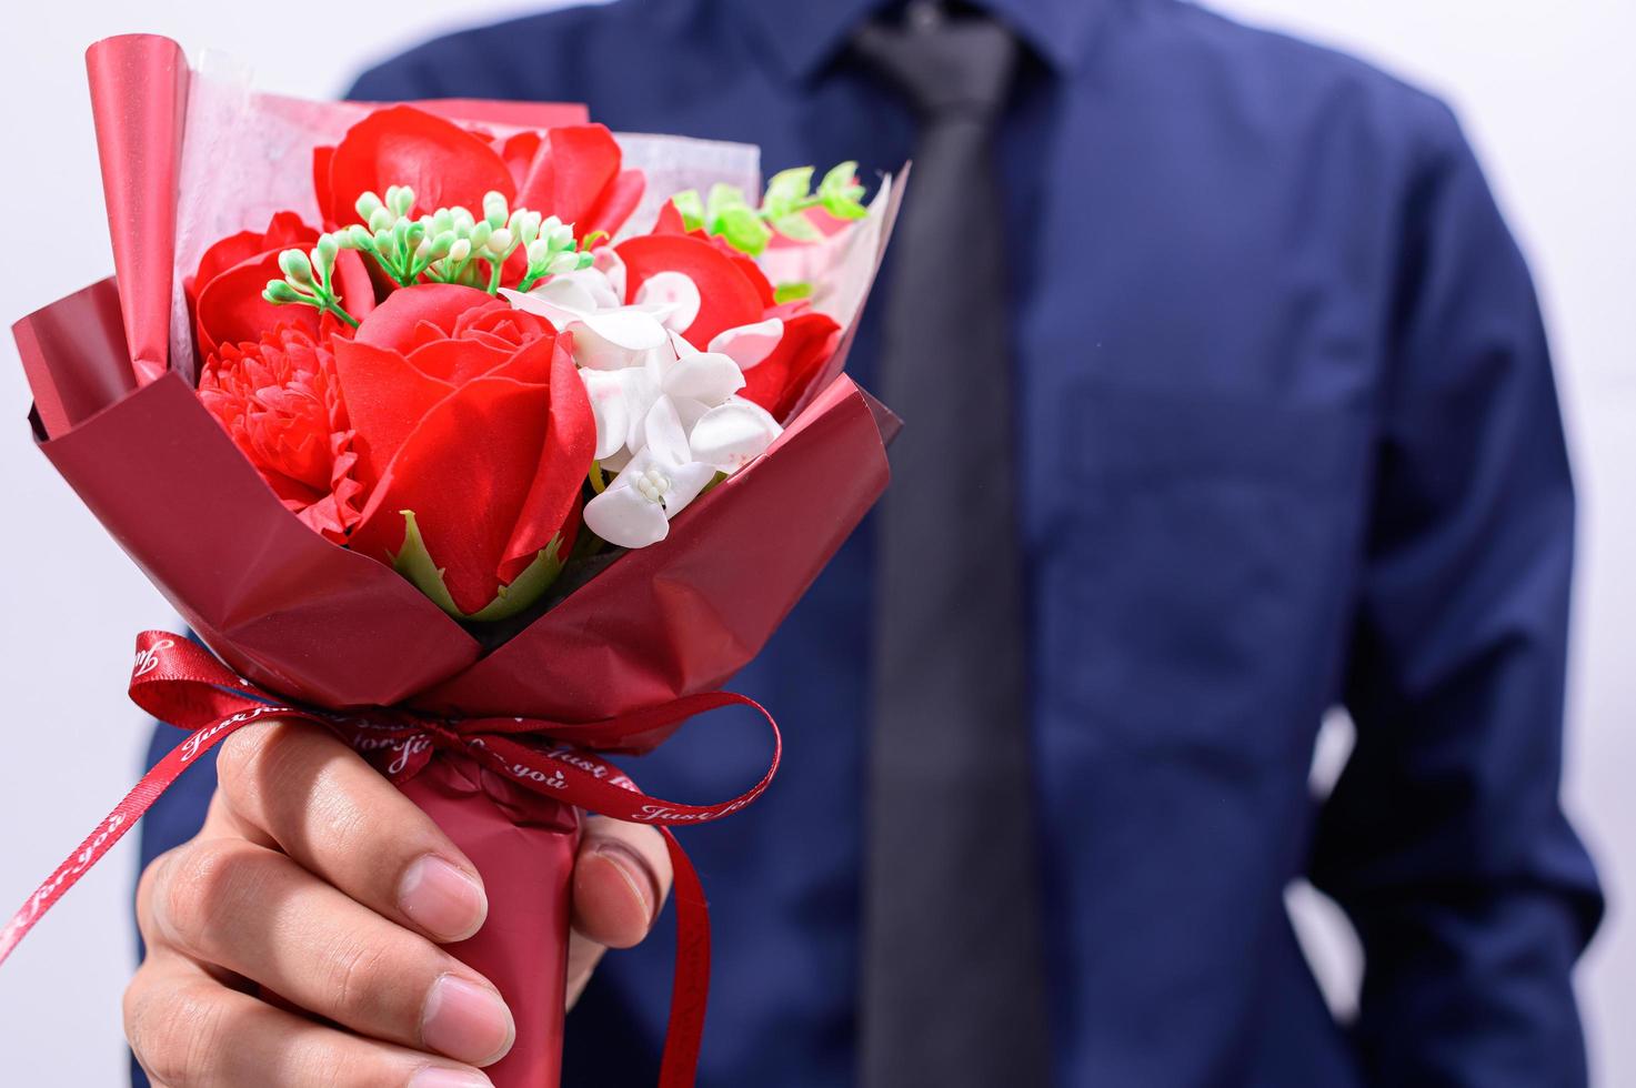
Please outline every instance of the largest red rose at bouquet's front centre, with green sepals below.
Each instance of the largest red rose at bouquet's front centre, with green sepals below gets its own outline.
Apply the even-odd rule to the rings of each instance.
[[[420,285],[334,350],[368,489],[352,548],[391,563],[412,525],[442,568],[440,604],[524,607],[502,587],[553,540],[566,553],[596,453],[591,402],[550,322],[474,288]]]

